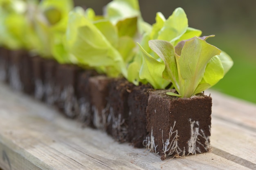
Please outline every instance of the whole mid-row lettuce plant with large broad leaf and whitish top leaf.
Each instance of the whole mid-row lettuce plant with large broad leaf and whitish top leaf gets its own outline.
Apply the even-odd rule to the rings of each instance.
[[[92,9],[72,11],[66,41],[78,63],[110,77],[122,74],[127,78],[127,63],[136,47],[133,38],[140,17],[137,7],[137,0],[114,0],[107,5],[107,13],[102,17],[96,17]],[[123,11],[127,13],[124,15]]]

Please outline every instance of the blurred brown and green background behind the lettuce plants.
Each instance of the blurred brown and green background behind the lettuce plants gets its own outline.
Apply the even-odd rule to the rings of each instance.
[[[101,15],[110,0],[74,0]],[[182,7],[189,26],[203,35],[216,35],[207,41],[227,52],[234,66],[212,89],[256,103],[256,0],[139,0],[142,17],[150,24],[155,14],[167,18]]]

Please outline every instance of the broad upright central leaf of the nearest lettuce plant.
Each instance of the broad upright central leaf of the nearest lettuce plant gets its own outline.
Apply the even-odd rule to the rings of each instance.
[[[194,95],[196,87],[204,76],[207,63],[220,52],[218,48],[198,37],[185,42],[181,55],[175,55],[180,65],[180,76],[182,81],[184,80],[184,85],[180,87],[180,95],[184,97]]]

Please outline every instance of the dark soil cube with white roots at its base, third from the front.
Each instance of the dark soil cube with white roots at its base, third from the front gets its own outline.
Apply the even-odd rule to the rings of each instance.
[[[116,78],[109,85],[109,115],[107,133],[118,142],[128,140],[128,96],[134,85],[124,78]]]

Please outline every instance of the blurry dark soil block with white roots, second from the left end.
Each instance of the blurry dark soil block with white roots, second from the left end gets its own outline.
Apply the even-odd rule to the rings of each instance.
[[[24,50],[10,52],[9,81],[13,89],[34,94],[32,61],[28,52]]]

